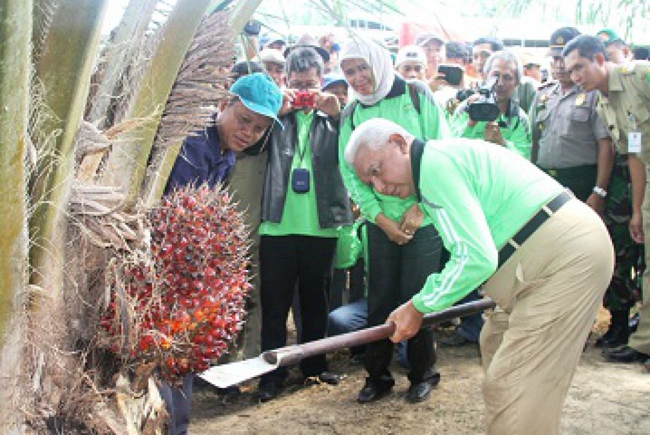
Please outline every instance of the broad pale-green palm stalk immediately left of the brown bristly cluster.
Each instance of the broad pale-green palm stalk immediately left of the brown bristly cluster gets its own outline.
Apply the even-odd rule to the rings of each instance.
[[[132,208],[138,200],[162,109],[194,33],[210,4],[211,0],[179,0],[176,3],[162,29],[161,42],[156,47],[151,66],[126,116],[151,116],[152,120],[136,135],[131,135],[129,140],[116,143],[109,154],[101,176],[102,184],[122,187],[127,209]]]

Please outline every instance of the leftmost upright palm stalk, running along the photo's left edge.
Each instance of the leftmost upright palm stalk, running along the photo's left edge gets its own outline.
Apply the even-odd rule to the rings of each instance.
[[[29,119],[31,0],[0,4],[0,431],[18,433],[27,270],[25,150]]]

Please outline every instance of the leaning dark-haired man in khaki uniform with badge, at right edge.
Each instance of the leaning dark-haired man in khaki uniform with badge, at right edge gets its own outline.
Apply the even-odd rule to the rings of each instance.
[[[573,81],[585,90],[601,91],[598,112],[608,125],[620,153],[629,153],[629,170],[632,181],[632,219],[630,234],[643,243],[645,233],[645,261],[648,262],[650,241],[650,189],[646,185],[650,174],[650,63],[614,65],[606,61],[603,42],[595,36],[578,36],[562,51],[565,68]],[[645,196],[645,198],[644,198]],[[643,206],[642,206],[643,204]],[[643,218],[642,218],[643,215]],[[650,280],[643,280],[645,304],[640,311],[640,323],[632,334],[629,347],[610,353],[610,358],[620,362],[650,359]]]

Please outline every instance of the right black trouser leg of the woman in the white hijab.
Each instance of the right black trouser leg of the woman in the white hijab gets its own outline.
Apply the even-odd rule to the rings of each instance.
[[[413,239],[400,246],[400,250],[402,274],[399,303],[404,304],[422,290],[430,274],[439,272],[443,244],[434,226],[428,225],[415,231]],[[430,380],[435,375],[434,333],[431,328],[422,328],[408,340],[406,357],[411,383]]]

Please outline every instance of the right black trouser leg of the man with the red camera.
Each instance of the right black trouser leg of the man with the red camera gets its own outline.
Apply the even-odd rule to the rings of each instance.
[[[294,236],[298,245],[298,295],[302,316],[302,343],[322,339],[327,332],[328,287],[336,250],[331,237]],[[305,358],[300,371],[316,376],[327,370],[325,355]]]

